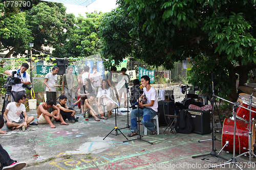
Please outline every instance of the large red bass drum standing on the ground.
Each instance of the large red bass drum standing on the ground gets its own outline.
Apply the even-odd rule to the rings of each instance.
[[[243,120],[236,119],[236,153],[245,153],[249,149],[249,123]],[[233,131],[234,131],[234,120],[230,118],[225,118],[223,129],[222,129],[222,147],[229,141],[229,144],[223,149],[224,151],[233,152]],[[252,123],[252,138],[251,138],[251,149],[253,151],[252,145],[255,143],[255,125]]]

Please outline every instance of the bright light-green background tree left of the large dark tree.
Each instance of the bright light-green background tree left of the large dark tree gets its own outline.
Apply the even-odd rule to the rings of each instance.
[[[74,25],[66,32],[66,40],[56,46],[53,52],[57,57],[87,57],[98,54],[101,48],[98,36],[99,24],[103,14],[86,13],[86,18],[75,18]]]

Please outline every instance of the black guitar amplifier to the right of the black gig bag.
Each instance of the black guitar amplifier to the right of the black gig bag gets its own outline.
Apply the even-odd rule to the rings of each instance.
[[[193,109],[184,109],[191,114],[192,121],[194,124],[194,133],[197,134],[208,134],[210,133],[210,112],[193,110]]]

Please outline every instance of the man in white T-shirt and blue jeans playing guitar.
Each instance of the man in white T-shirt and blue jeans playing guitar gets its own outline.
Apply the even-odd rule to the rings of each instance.
[[[157,101],[157,91],[154,87],[150,85],[150,77],[148,76],[142,76],[141,77],[141,85],[143,87],[143,94],[140,96],[139,105],[144,107],[143,109],[134,109],[131,112],[131,132],[128,134],[128,137],[132,137],[135,135],[138,135],[138,124],[137,124],[137,117],[141,117],[143,115],[143,118],[141,120],[141,123],[151,131],[151,135],[156,134],[156,127],[151,122],[151,119],[155,117],[157,114],[157,108],[158,108],[158,101]],[[143,96],[146,96],[147,100],[145,104],[141,102],[141,98]],[[139,115],[138,115],[139,112]]]

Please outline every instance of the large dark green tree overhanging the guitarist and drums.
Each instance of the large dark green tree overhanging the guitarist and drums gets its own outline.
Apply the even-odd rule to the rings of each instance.
[[[210,73],[219,71],[221,66],[223,71],[219,72],[223,75],[219,76],[227,79],[220,81],[230,85],[222,86],[222,94],[228,95],[231,101],[237,100],[236,73],[242,85],[248,79],[248,70],[256,67],[254,1],[119,0],[118,4],[123,18],[118,25],[123,25],[127,34],[123,36],[113,29],[112,22],[102,28],[108,29],[101,35],[106,45],[102,52],[105,57],[120,60],[120,56],[130,54],[148,64],[163,64],[166,68],[172,68],[174,61],[192,57],[196,65],[208,66],[193,67],[193,71],[201,71],[206,78],[201,80],[199,75],[194,75],[194,85],[201,88],[209,82]],[[102,23],[106,20],[108,17],[104,17]],[[125,46],[131,51],[120,53],[118,48],[108,48],[112,47],[111,43],[131,39],[136,41]],[[212,61],[218,67],[209,67]],[[202,68],[205,70],[200,70]]]

